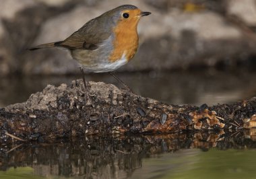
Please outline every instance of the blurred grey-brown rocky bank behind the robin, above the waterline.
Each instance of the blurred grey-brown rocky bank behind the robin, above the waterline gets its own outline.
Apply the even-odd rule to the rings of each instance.
[[[8,2],[3,3],[5,9],[18,0]],[[160,1],[157,7],[151,0],[132,2],[142,10],[152,11],[152,15],[139,23],[137,55],[119,71],[213,67],[219,63],[236,64],[255,55],[255,42],[216,10],[223,2],[191,2],[201,3],[201,8],[187,11],[185,1]],[[55,48],[30,52],[25,49],[63,40],[88,20],[121,4],[123,2],[118,0],[26,0],[16,5],[16,10],[1,12],[0,75],[79,73],[77,63],[66,51]]]

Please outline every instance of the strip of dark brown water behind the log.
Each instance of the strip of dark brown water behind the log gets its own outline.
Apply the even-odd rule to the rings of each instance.
[[[117,74],[136,94],[171,104],[218,104],[256,96],[256,73],[193,71]],[[80,76],[7,77],[0,79],[0,107],[24,102],[47,84],[70,84]],[[86,75],[89,81],[121,85],[108,74]]]

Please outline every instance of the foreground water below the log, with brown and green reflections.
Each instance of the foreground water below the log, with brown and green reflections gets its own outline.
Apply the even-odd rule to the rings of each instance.
[[[32,167],[36,176],[71,178],[184,178],[182,174],[189,176],[189,171],[193,171],[193,177],[198,178],[197,170],[202,176],[207,174],[200,169],[203,167],[212,173],[217,172],[214,168],[220,168],[234,176],[236,172],[249,171],[247,176],[251,176],[256,174],[250,170],[256,166],[252,163],[256,141],[250,139],[251,133],[255,131],[238,131],[232,135],[85,137],[51,144],[25,143],[14,150],[11,148],[18,144],[1,145],[0,170],[26,166]],[[230,163],[223,163],[225,161]],[[6,174],[0,172],[0,176]]]

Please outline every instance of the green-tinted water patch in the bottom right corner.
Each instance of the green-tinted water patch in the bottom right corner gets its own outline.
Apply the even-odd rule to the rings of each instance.
[[[256,178],[256,150],[195,149],[143,159],[131,178]]]

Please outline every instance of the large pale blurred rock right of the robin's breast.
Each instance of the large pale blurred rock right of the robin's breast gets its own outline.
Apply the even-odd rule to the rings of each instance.
[[[129,71],[212,67],[220,61],[243,59],[242,55],[247,57],[253,52],[250,40],[238,28],[210,11],[154,13],[150,22],[141,22],[141,26],[150,28],[141,33],[139,52],[125,67]]]

